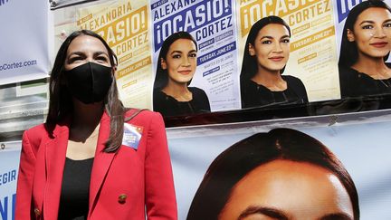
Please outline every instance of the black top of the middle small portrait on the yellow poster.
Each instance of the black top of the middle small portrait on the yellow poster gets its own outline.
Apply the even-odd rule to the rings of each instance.
[[[242,81],[242,109],[308,102],[307,91],[300,79],[288,75],[281,77],[287,82],[287,89],[284,91],[271,91],[252,80]]]

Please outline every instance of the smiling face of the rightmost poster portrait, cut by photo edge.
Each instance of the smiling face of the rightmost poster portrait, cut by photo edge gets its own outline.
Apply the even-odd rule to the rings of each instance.
[[[353,30],[348,30],[348,41],[356,43],[358,59],[383,59],[391,48],[391,13],[385,8],[368,8],[358,15]]]

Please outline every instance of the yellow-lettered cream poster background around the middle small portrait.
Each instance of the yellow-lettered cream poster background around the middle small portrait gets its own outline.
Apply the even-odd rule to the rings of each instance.
[[[237,5],[239,63],[252,25],[263,17],[279,16],[291,28],[291,53],[283,74],[299,78],[310,101],[339,99],[331,0],[237,0]]]

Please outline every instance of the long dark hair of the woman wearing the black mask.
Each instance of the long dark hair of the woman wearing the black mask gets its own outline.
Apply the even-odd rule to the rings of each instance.
[[[52,134],[52,131],[57,123],[69,116],[72,116],[72,95],[68,91],[65,83],[64,62],[66,59],[68,47],[76,37],[81,35],[89,35],[99,39],[109,52],[110,65],[114,67],[117,66],[118,63],[117,56],[110,49],[109,44],[106,43],[105,40],[97,33],[89,30],[75,31],[65,39],[54,60],[54,65],[50,75],[49,111],[45,123],[45,127],[48,129],[50,134]],[[110,136],[106,141],[105,151],[114,152],[120,147],[122,143],[124,113],[127,110],[119,100],[117,83],[115,79],[113,79],[111,82],[110,89],[104,99],[104,108],[110,116]]]

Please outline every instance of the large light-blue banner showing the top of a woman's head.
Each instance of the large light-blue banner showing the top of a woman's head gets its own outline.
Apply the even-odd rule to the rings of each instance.
[[[179,219],[389,219],[389,110],[329,120],[168,129]]]

